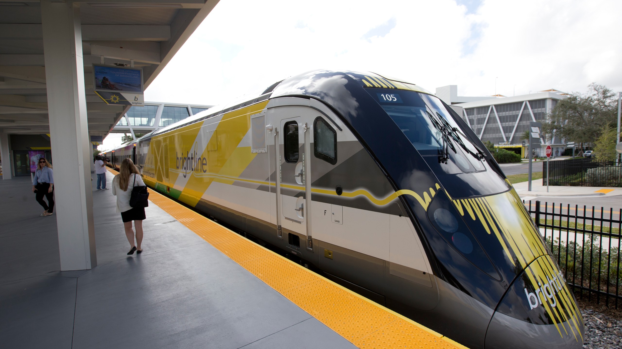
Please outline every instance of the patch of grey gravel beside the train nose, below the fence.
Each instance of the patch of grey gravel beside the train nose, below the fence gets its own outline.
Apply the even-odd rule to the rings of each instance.
[[[593,309],[581,310],[585,323],[583,348],[622,348],[622,321]]]

